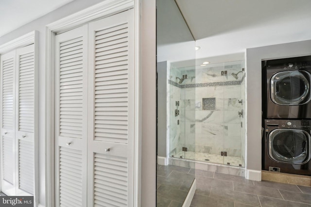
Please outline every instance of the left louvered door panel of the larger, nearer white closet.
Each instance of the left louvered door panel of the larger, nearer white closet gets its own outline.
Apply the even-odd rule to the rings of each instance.
[[[55,44],[55,204],[86,207],[87,25]]]

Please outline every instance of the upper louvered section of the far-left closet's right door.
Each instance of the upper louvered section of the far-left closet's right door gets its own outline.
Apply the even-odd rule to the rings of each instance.
[[[18,103],[18,130],[34,132],[35,110],[35,76],[34,52],[20,55],[19,61],[19,103]]]

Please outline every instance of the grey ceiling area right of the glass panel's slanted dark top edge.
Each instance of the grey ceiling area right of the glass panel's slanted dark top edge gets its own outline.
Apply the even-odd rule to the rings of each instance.
[[[195,40],[263,24],[311,18],[311,0],[175,1]]]

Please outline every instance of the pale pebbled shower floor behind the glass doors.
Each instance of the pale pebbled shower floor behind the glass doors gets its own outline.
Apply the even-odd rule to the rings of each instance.
[[[203,152],[180,151],[176,155],[174,155],[174,158],[192,159],[196,161],[204,161],[204,162],[217,163],[217,164],[227,164],[227,165],[236,166],[236,167],[244,167],[244,162],[242,161],[241,158],[232,157],[232,156],[207,154]]]

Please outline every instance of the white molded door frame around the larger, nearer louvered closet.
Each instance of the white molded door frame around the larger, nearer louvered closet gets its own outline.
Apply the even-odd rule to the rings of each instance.
[[[55,206],[55,117],[54,117],[54,60],[55,60],[55,35],[82,26],[91,21],[112,16],[114,14],[134,8],[134,189],[133,206],[140,207],[140,176],[141,176],[141,78],[140,78],[140,25],[141,25],[141,0],[106,0],[76,14],[60,19],[46,28],[46,206]]]

